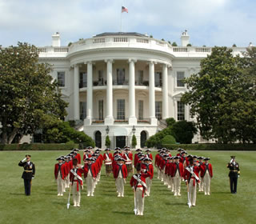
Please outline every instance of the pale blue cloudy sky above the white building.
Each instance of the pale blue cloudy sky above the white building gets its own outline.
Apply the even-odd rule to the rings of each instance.
[[[121,13],[121,7],[128,9]],[[256,45],[255,0],[0,0],[0,45],[62,46],[104,32],[138,32],[193,46]]]

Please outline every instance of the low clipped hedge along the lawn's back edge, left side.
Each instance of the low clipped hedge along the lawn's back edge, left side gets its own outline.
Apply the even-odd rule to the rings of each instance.
[[[78,148],[78,144],[0,144],[0,151],[2,150],[72,150]]]

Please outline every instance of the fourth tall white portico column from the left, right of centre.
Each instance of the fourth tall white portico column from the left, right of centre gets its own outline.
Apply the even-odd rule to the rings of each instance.
[[[136,125],[137,118],[135,116],[135,67],[134,59],[129,59],[129,124]]]

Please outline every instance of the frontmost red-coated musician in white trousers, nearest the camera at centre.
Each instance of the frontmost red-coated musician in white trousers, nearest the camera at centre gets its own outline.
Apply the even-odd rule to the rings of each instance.
[[[146,178],[150,177],[150,172],[142,172],[141,164],[138,163],[136,166],[137,174],[134,174],[130,179],[130,186],[134,190],[135,197],[135,214],[143,215],[144,212],[144,194],[147,190],[146,187]]]

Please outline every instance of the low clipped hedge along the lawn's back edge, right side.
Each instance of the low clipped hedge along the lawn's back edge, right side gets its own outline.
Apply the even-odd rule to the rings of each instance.
[[[184,150],[229,150],[229,151],[254,151],[256,144],[166,144],[169,150],[182,148]]]

